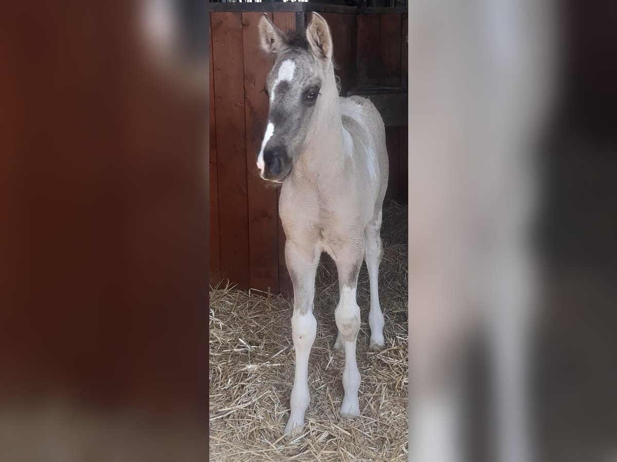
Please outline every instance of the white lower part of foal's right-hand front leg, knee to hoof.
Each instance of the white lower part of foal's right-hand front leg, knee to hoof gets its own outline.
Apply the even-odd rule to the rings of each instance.
[[[360,402],[358,402],[360,371],[355,361],[355,343],[360,330],[360,307],[356,302],[355,288],[341,288],[341,300],[334,311],[334,318],[336,318],[336,325],[344,339],[345,346],[345,368],[343,370],[345,396],[341,405],[341,415],[356,416],[360,415]]]

